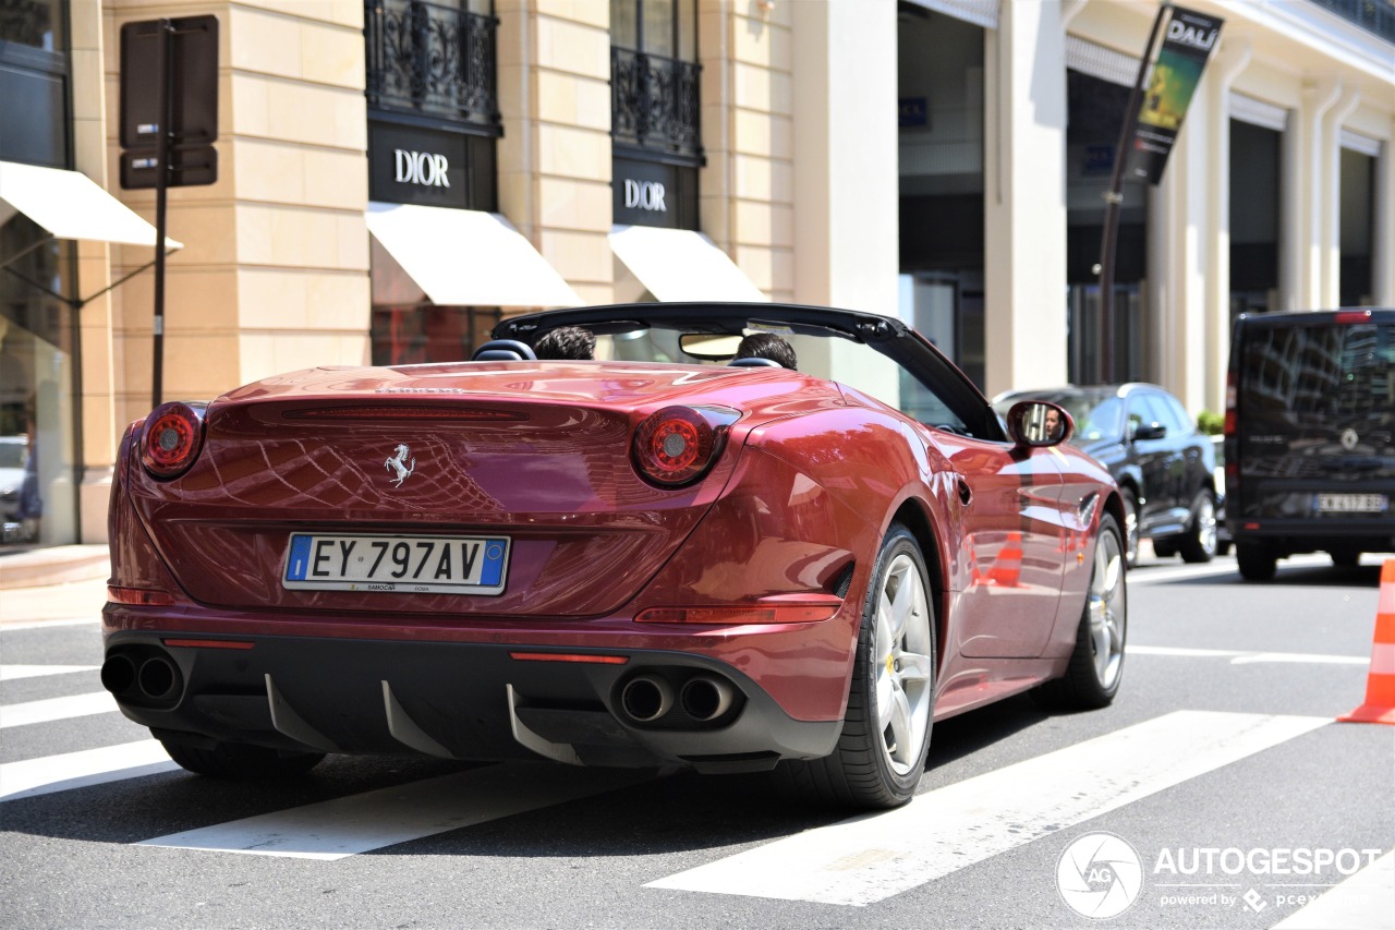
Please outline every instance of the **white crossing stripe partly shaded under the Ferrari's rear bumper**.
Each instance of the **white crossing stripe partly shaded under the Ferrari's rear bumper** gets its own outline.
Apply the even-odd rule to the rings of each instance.
[[[541,807],[628,788],[643,771],[505,762],[319,804],[156,836],[138,846],[343,859]]]

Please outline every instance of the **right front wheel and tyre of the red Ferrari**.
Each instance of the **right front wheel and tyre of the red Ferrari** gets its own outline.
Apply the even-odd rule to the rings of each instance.
[[[1129,586],[1123,533],[1109,514],[1099,521],[1089,589],[1066,674],[1039,684],[1032,697],[1052,709],[1092,711],[1119,694],[1129,635]]]

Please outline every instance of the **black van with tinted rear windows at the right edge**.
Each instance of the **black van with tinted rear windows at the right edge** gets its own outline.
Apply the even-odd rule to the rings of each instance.
[[[1395,552],[1395,310],[1243,314],[1230,337],[1225,522],[1240,574]]]

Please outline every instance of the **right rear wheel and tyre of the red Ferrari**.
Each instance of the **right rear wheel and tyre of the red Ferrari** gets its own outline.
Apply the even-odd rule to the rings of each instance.
[[[787,760],[776,782],[809,800],[897,807],[925,771],[935,718],[935,616],[915,536],[893,525],[862,606],[848,711],[830,755]]]

